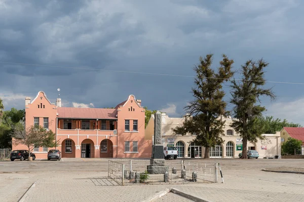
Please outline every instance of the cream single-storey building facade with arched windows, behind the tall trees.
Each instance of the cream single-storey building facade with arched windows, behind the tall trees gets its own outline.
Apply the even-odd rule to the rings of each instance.
[[[173,134],[172,128],[181,126],[184,121],[182,118],[172,118],[162,113],[162,140],[164,146],[176,146],[178,149],[178,158],[203,158],[205,148],[192,142],[196,134],[176,135]],[[230,126],[232,118],[225,119],[224,135],[222,144],[209,149],[210,158],[238,158],[242,153],[243,144],[240,134]],[[154,115],[151,116],[145,131],[145,136],[153,137]],[[263,134],[264,140],[257,142],[247,142],[247,149],[257,150],[260,158],[281,158],[281,139],[280,132],[276,134]]]

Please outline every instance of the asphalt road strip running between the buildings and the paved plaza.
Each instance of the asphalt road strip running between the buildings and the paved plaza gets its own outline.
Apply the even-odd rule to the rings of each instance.
[[[100,172],[108,171],[108,161],[128,161],[128,159],[62,159],[62,161],[2,161],[0,162],[0,173],[27,173],[27,172]],[[138,160],[133,160],[138,161]],[[142,162],[148,162],[145,159]],[[166,160],[166,164],[179,164],[178,160]],[[184,159],[185,163],[219,163],[222,171],[244,170],[244,169],[270,169],[283,166],[302,168],[304,159]]]

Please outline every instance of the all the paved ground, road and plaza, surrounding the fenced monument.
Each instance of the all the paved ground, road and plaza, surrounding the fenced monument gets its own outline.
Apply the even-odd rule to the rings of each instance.
[[[179,160],[170,160],[179,162]],[[304,175],[261,169],[302,168],[301,159],[185,160],[220,163],[224,184],[189,183],[118,186],[107,178],[107,159],[0,162],[0,201],[147,201],[176,188],[208,201],[301,201]],[[12,173],[14,172],[14,173]],[[192,201],[168,193],[156,201]]]

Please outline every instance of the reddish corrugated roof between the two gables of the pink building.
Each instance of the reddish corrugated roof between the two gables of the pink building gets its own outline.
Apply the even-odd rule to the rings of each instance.
[[[117,119],[116,109],[60,107],[57,113],[58,118]]]

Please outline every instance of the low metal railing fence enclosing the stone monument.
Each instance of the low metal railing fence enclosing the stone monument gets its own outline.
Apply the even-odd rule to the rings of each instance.
[[[217,163],[198,163],[181,160],[165,161],[168,168],[168,182],[171,184],[192,183],[216,183]],[[164,182],[164,174],[149,174],[147,167],[149,160],[114,160],[108,161],[108,177],[120,185],[131,185],[135,183],[135,174],[139,175],[139,182],[144,184],[153,184]],[[194,180],[194,175],[196,175]],[[138,181],[137,181],[138,183]]]

